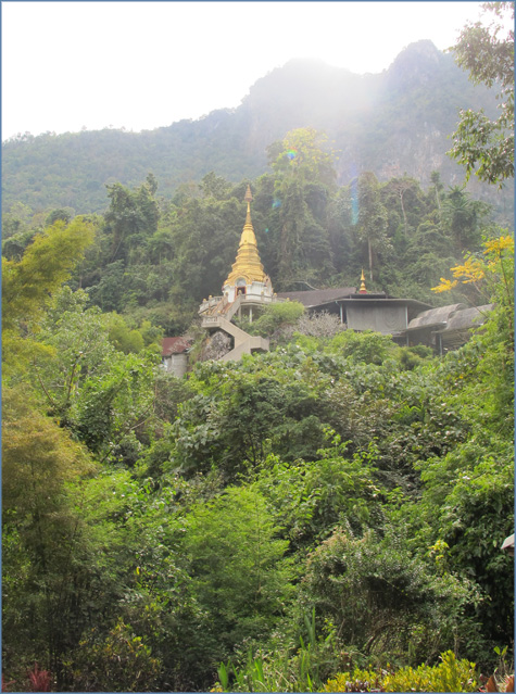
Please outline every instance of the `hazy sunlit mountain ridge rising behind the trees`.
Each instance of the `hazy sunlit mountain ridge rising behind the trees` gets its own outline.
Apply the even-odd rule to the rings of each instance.
[[[405,48],[381,74],[355,75],[312,60],[292,60],[259,79],[237,109],[211,112],[142,133],[28,134],[2,144],[3,209],[16,201],[34,211],[71,206],[77,213],[106,207],[105,185],[133,186],[149,172],[172,197],[181,182],[214,171],[230,181],[267,171],[266,148],[298,127],[326,131],[337,150],[338,182],[362,171],[380,180],[406,173],[427,185],[432,171],[448,185],[464,171],[445,152],[460,109],[494,114],[493,90],[474,86],[450,54],[424,40]],[[513,204],[471,181],[477,198]]]

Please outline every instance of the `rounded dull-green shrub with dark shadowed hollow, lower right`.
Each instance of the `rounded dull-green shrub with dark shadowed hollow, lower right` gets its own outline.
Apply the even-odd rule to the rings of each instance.
[[[477,595],[465,580],[433,575],[399,530],[355,539],[349,526],[337,528],[309,556],[300,601],[331,620],[342,645],[420,663],[477,633],[464,614]]]

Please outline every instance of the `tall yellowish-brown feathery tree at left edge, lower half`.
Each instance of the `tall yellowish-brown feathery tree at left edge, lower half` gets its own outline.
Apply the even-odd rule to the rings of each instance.
[[[27,388],[4,388],[2,403],[3,661],[16,672],[37,657],[59,677],[91,580],[67,485],[93,465]]]

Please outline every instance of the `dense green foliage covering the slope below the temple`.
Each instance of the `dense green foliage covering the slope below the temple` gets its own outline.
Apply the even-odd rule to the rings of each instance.
[[[495,291],[513,248],[484,244]],[[9,314],[28,341],[4,355],[10,680],[36,660],[61,691],[314,691],[370,663],[437,681],[418,666],[450,648],[494,668],[513,630],[511,292],[441,359],[310,335],[292,304],[309,333],[185,381],[85,301]]]

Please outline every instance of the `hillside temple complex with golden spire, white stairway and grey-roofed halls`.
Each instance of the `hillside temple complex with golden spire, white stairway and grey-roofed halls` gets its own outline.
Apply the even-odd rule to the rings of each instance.
[[[362,272],[360,288],[341,287],[309,291],[274,293],[268,275],[265,274],[251,220],[251,187],[248,186],[244,202],[248,209],[240,236],[237,257],[226,280],[222,294],[204,299],[199,307],[201,326],[210,335],[210,349],[205,358],[237,361],[242,354],[266,352],[269,341],[251,336],[232,323],[234,317],[247,318],[267,304],[297,301],[309,313],[326,311],[338,314],[348,329],[374,330],[390,335],[400,345],[426,344],[436,353],[464,344],[470,330],[480,325],[491,305],[467,308],[463,304],[432,308],[414,299],[395,299],[385,292],[369,292]],[[242,323],[240,323],[242,326]],[[183,338],[165,338],[163,341],[163,366],[176,376],[183,376],[188,367],[189,343]]]

